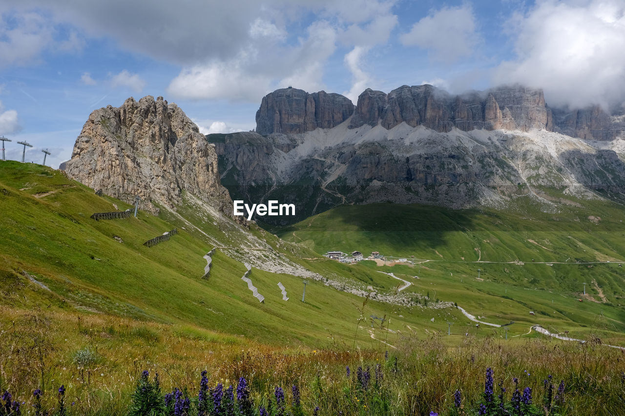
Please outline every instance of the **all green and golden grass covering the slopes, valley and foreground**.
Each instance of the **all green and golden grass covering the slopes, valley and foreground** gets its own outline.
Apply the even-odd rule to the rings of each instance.
[[[560,414],[622,409],[619,350],[527,334],[541,324],[572,337],[624,342],[617,263],[537,264],[572,254],[577,257],[569,262],[620,259],[619,206],[594,201],[557,214],[531,207],[455,214],[422,206],[341,207],[279,233],[301,245],[254,224],[249,230],[216,225],[185,201],[180,216],[140,211],[136,219],[95,221],[93,212],[129,206],[47,167],[0,164],[0,234],[7,236],[0,239],[0,389],[26,402],[22,409],[32,410],[32,390],[42,389],[44,409],[58,410],[56,389],[64,384],[66,403],[75,403],[71,415],[125,414],[142,370],[159,372],[163,392],[186,387],[196,397],[199,373],[207,369],[211,387],[246,377],[256,405],[268,404],[276,385],[290,403],[297,384],[303,414],[316,406],[320,415],[450,414],[456,389],[471,414],[486,367],[508,388],[523,370],[532,374],[523,385],[535,392],[547,374],[565,380]],[[589,215],[601,217],[599,224]],[[169,241],[143,245],[174,227],[179,234]],[[379,271],[392,272],[412,283],[404,292],[427,298],[429,306],[437,299],[457,302],[483,320],[515,324],[506,340],[502,329],[476,328],[454,308],[363,302],[324,280],[309,279],[303,303],[300,277],[254,268],[250,277],[266,297],[260,304],[241,280],[244,265],[220,249],[211,278],[201,279],[212,239],[236,249],[252,238],[324,279],[388,294],[399,282]],[[345,265],[324,259],[327,249],[429,261]],[[477,259],[497,263],[473,263]],[[524,264],[499,263],[517,259]],[[484,280],[476,279],[478,267]],[[593,279],[607,302],[578,302],[581,282],[599,299]],[[381,325],[371,315],[386,320]],[[345,376],[347,365],[353,374],[377,364],[384,383],[375,389],[364,391]]]

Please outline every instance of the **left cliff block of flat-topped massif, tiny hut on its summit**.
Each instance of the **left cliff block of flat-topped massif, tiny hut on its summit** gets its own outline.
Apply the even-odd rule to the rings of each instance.
[[[325,91],[309,94],[296,88],[284,88],[262,98],[256,112],[256,132],[303,133],[321,127],[331,129],[346,121],[354,104],[341,94]]]

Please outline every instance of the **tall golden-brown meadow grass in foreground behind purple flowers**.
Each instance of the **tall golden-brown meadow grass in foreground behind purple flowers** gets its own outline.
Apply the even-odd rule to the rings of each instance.
[[[229,385],[236,389],[239,379],[246,379],[255,415],[261,406],[277,414],[276,387],[284,390],[286,411],[292,414],[470,415],[484,403],[487,368],[494,384],[506,388],[506,404],[515,377],[521,392],[529,387],[537,414],[618,415],[625,409],[623,352],[591,342],[469,336],[450,347],[432,334],[402,337],[397,349],[389,351],[382,344],[354,350],[351,339],[347,347],[287,349],[244,339],[233,343],[218,334],[199,337],[199,329],[106,315],[78,320],[79,315],[68,312],[1,312],[5,317],[11,312],[12,320],[4,320],[0,330],[0,389],[9,390],[14,400],[25,402],[22,410],[31,412],[36,389],[43,392],[41,409],[58,412],[58,388],[64,385],[68,415],[126,414],[138,400],[135,390],[144,370],[151,377],[159,373],[163,395],[177,388],[195,409],[201,372],[207,370],[211,389],[217,383],[224,390]],[[544,406],[549,386],[544,380],[554,386],[552,402],[564,383],[564,402],[550,411]],[[292,386],[301,396],[296,410]],[[459,408],[454,405],[456,390]]]

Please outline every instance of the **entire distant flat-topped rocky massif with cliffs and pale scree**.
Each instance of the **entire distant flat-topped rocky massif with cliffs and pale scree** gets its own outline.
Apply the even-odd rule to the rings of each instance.
[[[330,95],[277,90],[262,100],[256,132],[207,136],[233,196],[296,204],[284,224],[344,203],[502,207],[529,195],[548,209],[545,187],[625,192],[624,117],[599,107],[551,109],[541,90],[521,86],[451,96],[424,85],[367,89],[346,116],[345,97],[319,100]]]

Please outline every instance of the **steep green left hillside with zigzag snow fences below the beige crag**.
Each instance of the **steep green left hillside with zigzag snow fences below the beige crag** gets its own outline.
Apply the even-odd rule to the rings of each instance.
[[[179,227],[179,234],[169,241],[148,248],[144,241],[178,224],[145,212],[129,219],[89,218],[93,212],[115,210],[113,204],[119,210],[129,207],[110,197],[96,196],[59,171],[34,164],[0,164],[0,234],[4,236],[0,240],[0,269],[4,283],[28,285],[23,274],[27,272],[51,290],[41,299],[24,292],[10,302],[4,300],[25,309],[53,304],[62,310],[191,325],[269,344],[326,345],[332,342],[332,335],[344,342],[354,339],[362,298],[311,281],[304,304],[299,300],[301,278],[253,269],[251,279],[266,297],[260,304],[241,280],[244,265],[220,250],[213,257],[211,278],[200,279],[206,265],[202,255],[212,248],[201,234],[189,234]],[[216,231],[206,228],[205,232],[210,235]],[[274,236],[259,229],[254,232],[279,245]],[[123,243],[114,239],[116,236]],[[230,239],[236,242],[236,236],[230,235]],[[292,252],[289,255],[297,257]],[[334,269],[334,262],[326,264],[334,274],[349,269]],[[324,267],[315,268],[322,271]],[[363,269],[358,275],[367,284],[373,279],[367,276],[374,276],[379,286],[392,287],[392,279],[375,270]],[[286,286],[289,301],[282,300],[277,282]],[[434,312],[421,316],[404,310],[371,301],[366,317],[404,315],[392,325],[419,327],[427,323],[432,329],[442,329],[442,322],[429,322],[429,314]],[[462,319],[456,310],[445,313]],[[390,334],[389,340],[396,336]],[[365,330],[357,332],[357,338],[363,346],[374,342]]]

